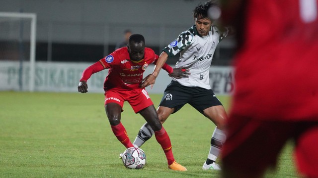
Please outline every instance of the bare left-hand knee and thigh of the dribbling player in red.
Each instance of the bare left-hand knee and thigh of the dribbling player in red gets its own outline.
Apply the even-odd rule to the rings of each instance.
[[[105,105],[105,111],[110,125],[116,126],[120,123],[121,106],[117,103],[108,103]]]

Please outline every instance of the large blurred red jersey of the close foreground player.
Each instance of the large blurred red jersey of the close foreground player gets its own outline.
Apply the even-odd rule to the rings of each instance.
[[[318,1],[245,0],[232,112],[318,121]]]

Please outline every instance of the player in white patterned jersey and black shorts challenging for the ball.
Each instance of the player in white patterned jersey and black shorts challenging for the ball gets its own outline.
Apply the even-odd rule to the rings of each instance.
[[[188,103],[216,125],[208,158],[202,167],[204,170],[221,170],[215,161],[226,139],[223,130],[227,114],[209,85],[209,69],[216,46],[231,32],[228,28],[221,31],[213,25],[208,11],[210,7],[216,6],[216,3],[208,1],[194,9],[195,25],[182,32],[176,40],[163,49],[154,72],[148,75],[141,85],[141,87],[153,85],[168,57],[180,54],[175,67],[187,71],[188,76],[182,78],[171,76],[172,81],[164,91],[157,112],[159,120],[163,123],[170,114],[177,112]],[[146,123],[140,129],[133,143],[134,146],[140,147],[153,134],[151,127]]]

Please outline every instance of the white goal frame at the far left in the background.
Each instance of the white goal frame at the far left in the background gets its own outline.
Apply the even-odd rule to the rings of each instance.
[[[5,23],[5,22],[14,22],[14,21],[19,21],[19,20],[30,20],[30,27],[29,29],[29,39],[27,39],[27,42],[29,42],[29,71],[28,71],[28,91],[34,91],[35,88],[35,50],[36,50],[36,14],[35,13],[16,13],[16,12],[0,12],[0,23]],[[8,25],[10,27],[5,28],[5,25],[2,25],[1,29],[1,34],[0,34],[0,40],[3,41],[12,41],[13,36],[16,36],[17,33],[14,35],[8,35],[12,34],[11,31],[17,30],[21,33],[21,29],[16,29],[16,28],[22,28],[23,30],[23,25],[22,26],[14,26],[14,25]],[[12,26],[12,27],[11,27]],[[19,33],[18,32],[18,33]],[[22,32],[23,33],[23,32]],[[20,39],[21,40],[21,39]],[[5,49],[2,49],[5,50]],[[4,60],[9,60],[4,58]],[[21,80],[21,79],[19,79]],[[25,81],[24,81],[25,82]],[[13,89],[16,90],[16,89]],[[24,89],[23,89],[24,90]]]

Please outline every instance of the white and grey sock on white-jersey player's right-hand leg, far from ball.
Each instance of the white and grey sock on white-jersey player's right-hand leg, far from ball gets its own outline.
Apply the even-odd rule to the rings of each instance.
[[[211,138],[211,147],[208,155],[208,159],[215,161],[220,155],[222,145],[226,140],[226,135],[223,131],[218,128],[215,128],[212,138]]]

